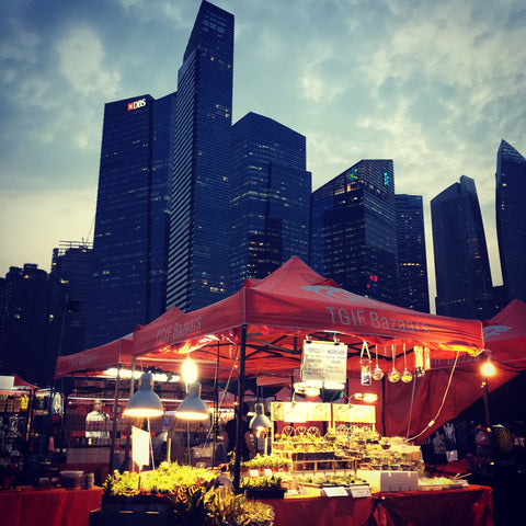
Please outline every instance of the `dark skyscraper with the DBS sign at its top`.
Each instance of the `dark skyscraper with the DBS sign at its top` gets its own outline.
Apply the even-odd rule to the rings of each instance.
[[[140,95],[104,107],[85,347],[165,310],[175,100]]]

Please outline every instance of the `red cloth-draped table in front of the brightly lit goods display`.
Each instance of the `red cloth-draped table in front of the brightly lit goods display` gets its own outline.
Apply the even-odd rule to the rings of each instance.
[[[263,501],[274,507],[274,526],[492,526],[491,488],[375,493]]]

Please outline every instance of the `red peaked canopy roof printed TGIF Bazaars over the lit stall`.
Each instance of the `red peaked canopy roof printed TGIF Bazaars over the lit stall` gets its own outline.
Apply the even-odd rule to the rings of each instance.
[[[364,298],[339,287],[293,256],[263,279],[248,279],[232,296],[183,313],[170,309],[135,331],[133,354],[170,359],[195,352],[203,359],[218,355],[228,369],[236,363],[241,327],[248,328],[245,371],[289,374],[298,368],[302,340],[332,341],[334,335],[358,352],[362,342],[390,356],[390,345],[425,345],[435,356],[451,351],[478,354],[482,324],[403,309]],[[388,347],[389,346],[389,347]],[[352,351],[351,350],[351,351]]]

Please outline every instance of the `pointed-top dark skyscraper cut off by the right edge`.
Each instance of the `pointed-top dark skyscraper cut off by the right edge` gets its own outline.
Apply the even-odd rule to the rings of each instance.
[[[496,155],[496,236],[508,299],[526,301],[526,159],[505,140]]]

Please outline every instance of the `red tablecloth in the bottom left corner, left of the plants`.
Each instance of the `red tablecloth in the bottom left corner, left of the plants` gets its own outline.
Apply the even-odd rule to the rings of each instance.
[[[88,526],[90,512],[101,507],[101,488],[21,489],[0,492],[2,526]]]

